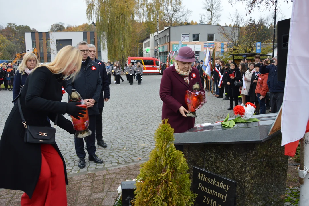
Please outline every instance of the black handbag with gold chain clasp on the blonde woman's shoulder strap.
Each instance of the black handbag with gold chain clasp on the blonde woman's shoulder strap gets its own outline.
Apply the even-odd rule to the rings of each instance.
[[[22,89],[22,88],[21,88]],[[23,125],[25,127],[24,142],[28,143],[40,143],[40,144],[54,144],[56,137],[56,128],[54,127],[38,127],[27,125],[27,122],[23,116],[23,112],[20,106],[20,94],[18,95],[18,109]],[[13,100],[15,101],[15,100]],[[57,125],[58,114],[56,115],[55,125]]]

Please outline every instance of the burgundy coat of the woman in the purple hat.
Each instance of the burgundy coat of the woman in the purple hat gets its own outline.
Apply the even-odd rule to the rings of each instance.
[[[192,77],[192,73],[196,74],[195,78]],[[178,109],[181,106],[188,109],[184,103],[184,95],[187,90],[192,90],[192,86],[197,81],[200,83],[201,91],[205,92],[198,74],[199,71],[192,68],[188,85],[184,78],[176,72],[175,66],[164,70],[160,85],[160,98],[163,101],[162,120],[168,118],[168,123],[175,129],[175,133],[182,133],[194,127],[195,118],[182,116]]]

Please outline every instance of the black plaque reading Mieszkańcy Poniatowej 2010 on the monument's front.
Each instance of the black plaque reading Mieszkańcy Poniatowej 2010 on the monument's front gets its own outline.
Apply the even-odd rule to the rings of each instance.
[[[195,205],[234,206],[236,182],[198,167],[193,167]]]

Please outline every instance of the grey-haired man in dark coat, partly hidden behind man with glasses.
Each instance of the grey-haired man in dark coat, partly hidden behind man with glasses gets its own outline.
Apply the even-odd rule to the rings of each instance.
[[[102,90],[99,98],[99,115],[96,115],[96,126],[95,126],[95,136],[97,139],[97,144],[101,147],[107,147],[107,144],[103,141],[103,122],[102,122],[102,114],[103,114],[103,107],[104,102],[107,102],[109,99],[109,80],[108,74],[106,72],[106,68],[104,62],[100,61],[99,59],[95,58],[96,56],[96,48],[93,44],[89,44],[89,54],[88,56],[91,58],[92,61],[95,61],[99,64],[99,72],[102,80]],[[104,93],[103,93],[104,92]]]

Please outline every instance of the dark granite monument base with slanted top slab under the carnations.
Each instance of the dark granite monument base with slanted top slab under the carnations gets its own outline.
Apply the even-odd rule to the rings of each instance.
[[[236,206],[284,205],[288,156],[284,155],[284,147],[281,147],[280,132],[270,137],[267,135],[265,136],[265,132],[261,132],[263,128],[268,129],[268,127],[265,128],[266,125],[271,126],[272,123],[270,117],[267,116],[267,118],[263,120],[263,116],[259,116],[259,119],[261,120],[259,125],[257,125],[256,122],[244,123],[243,125],[238,125],[236,128],[222,128],[224,131],[220,131],[221,129],[219,128],[207,129],[206,126],[203,131],[199,130],[199,132],[196,132],[198,133],[197,138],[200,141],[199,143],[192,139],[188,140],[187,143],[184,143],[182,135],[179,136],[182,143],[177,143],[179,139],[177,140],[177,134],[175,134],[175,143],[178,145],[184,143],[184,156],[187,159],[190,178],[193,182],[197,181],[197,178],[201,179],[201,173],[199,174],[200,177],[197,175],[197,177],[193,177],[193,166],[195,166],[235,181]],[[248,128],[260,129],[257,130],[260,132],[257,134],[246,133]],[[227,134],[227,130],[229,130],[229,135],[221,137],[222,139],[225,139],[225,142],[221,141],[222,139],[214,142],[213,137],[208,137],[208,134],[214,134],[212,129],[216,130],[216,136],[218,133],[220,135],[220,132]],[[247,135],[248,140],[242,137],[241,139],[243,141],[235,143],[235,139],[233,139],[233,137],[237,135]],[[260,136],[260,138],[256,138],[252,141],[252,136],[256,135]],[[205,137],[204,141],[201,141],[201,136]],[[211,142],[207,142],[207,139],[210,139]],[[260,139],[260,141],[257,141],[257,139]],[[205,174],[206,175],[204,175],[203,178],[206,178],[207,173]],[[215,177],[212,179],[216,179],[217,181],[219,178]],[[204,181],[204,183],[205,182],[206,181]],[[221,181],[219,184],[220,183]],[[216,182],[216,184],[218,184],[218,182]],[[225,184],[224,180],[223,184]],[[198,185],[201,186],[201,184]],[[199,196],[202,195],[202,197],[204,197],[203,195],[205,195],[205,197],[202,198],[204,201],[207,201],[208,197],[210,197],[210,200],[211,197],[214,197],[214,194],[210,194],[210,189],[216,191],[220,190],[220,188],[215,185],[207,185],[205,183],[203,186],[205,188],[210,186],[209,189],[198,192]],[[201,188],[202,187],[200,187],[200,189]],[[224,195],[226,194],[222,193],[222,195],[222,198],[224,198]],[[234,198],[229,197],[229,195],[227,196],[227,198]],[[205,204],[205,202],[197,201],[196,205],[209,204],[207,204],[207,202]],[[231,204],[228,204],[226,201],[221,206],[223,205],[225,206]]]

